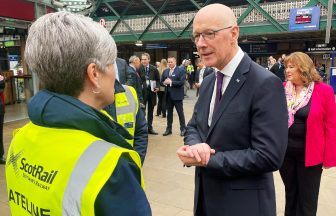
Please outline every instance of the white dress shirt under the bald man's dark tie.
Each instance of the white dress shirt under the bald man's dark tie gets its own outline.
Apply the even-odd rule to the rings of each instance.
[[[224,74],[223,85],[222,85],[222,95],[224,94],[227,86],[229,85],[231,77],[233,76],[233,73],[237,69],[237,67],[238,67],[239,63],[241,62],[241,60],[243,59],[243,57],[244,57],[244,52],[239,47],[239,50],[236,53],[236,55],[233,57],[233,59],[231,59],[231,61],[222,70],[218,70],[217,68],[214,68],[216,73],[217,73],[217,71],[219,71],[219,72]],[[209,110],[209,117],[208,117],[209,127],[210,127],[211,122],[212,122],[213,110],[215,108],[216,89],[217,89],[217,78],[216,78],[216,81],[215,81],[214,90],[212,92],[212,97],[211,97],[211,102],[210,102],[210,110]],[[222,98],[222,100],[223,100],[223,98]]]

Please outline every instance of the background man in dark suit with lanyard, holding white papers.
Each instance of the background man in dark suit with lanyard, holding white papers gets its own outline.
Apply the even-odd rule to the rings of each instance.
[[[160,74],[157,68],[151,64],[150,56],[148,53],[143,53],[141,55],[141,68],[140,77],[142,81],[143,91],[142,95],[144,98],[145,105],[147,106],[147,126],[148,134],[157,135],[158,133],[153,129],[153,110],[156,106],[156,92],[159,91],[160,87]]]

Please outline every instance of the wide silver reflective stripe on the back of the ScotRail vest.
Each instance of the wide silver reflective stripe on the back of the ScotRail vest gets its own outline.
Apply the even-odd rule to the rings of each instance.
[[[98,140],[93,142],[80,156],[72,170],[66,186],[63,201],[62,215],[80,216],[81,197],[91,176],[103,157],[116,145]]]

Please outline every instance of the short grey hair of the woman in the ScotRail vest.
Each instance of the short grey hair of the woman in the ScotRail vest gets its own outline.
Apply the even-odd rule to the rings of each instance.
[[[29,29],[25,49],[27,64],[42,86],[75,97],[83,91],[88,65],[95,63],[105,72],[116,56],[116,44],[105,28],[69,12],[37,19]]]

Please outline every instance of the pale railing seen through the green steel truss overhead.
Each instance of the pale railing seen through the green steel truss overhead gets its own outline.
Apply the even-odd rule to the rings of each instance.
[[[287,21],[289,19],[289,12],[292,8],[303,8],[307,5],[309,0],[298,0],[298,1],[279,1],[279,2],[270,2],[259,4],[259,6],[266,11],[270,16],[272,16],[278,22]],[[238,7],[233,7],[233,12],[235,15],[240,17],[244,11],[248,8],[249,5],[242,5]],[[327,8],[320,5],[321,7],[321,16],[326,16]],[[188,23],[194,18],[196,11],[183,12],[183,14],[162,14],[161,17],[170,25],[174,30],[181,30],[188,25]],[[138,33],[144,31],[148,26],[150,21],[154,18],[152,16],[146,16],[141,18],[132,18],[124,19],[132,31]],[[259,11],[253,9],[251,13],[243,20],[242,25],[249,23],[263,23],[267,19]],[[107,21],[106,28],[111,31],[111,29],[116,24],[116,21]],[[149,28],[149,32],[160,32],[167,31],[169,28],[166,24],[160,19],[157,18],[155,22]],[[114,34],[129,34],[129,29],[123,22],[119,22],[118,26],[115,28]]]

